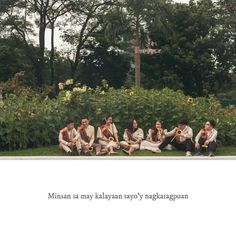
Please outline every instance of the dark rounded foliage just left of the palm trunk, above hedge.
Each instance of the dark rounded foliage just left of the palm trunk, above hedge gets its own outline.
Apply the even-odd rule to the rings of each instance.
[[[79,68],[78,81],[92,88],[101,85],[103,80],[120,88],[126,81],[130,60],[118,50],[110,49],[107,42],[98,42],[86,47],[90,54],[84,57]]]

